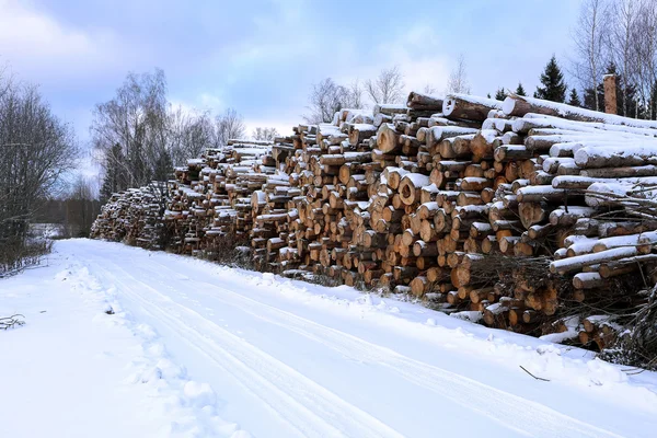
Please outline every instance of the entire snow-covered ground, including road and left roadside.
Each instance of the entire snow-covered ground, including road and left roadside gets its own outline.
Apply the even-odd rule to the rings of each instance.
[[[47,266],[0,280],[0,315],[26,321],[0,332],[0,436],[657,429],[657,376],[580,349],[347,287],[116,243],[58,241],[55,250]]]

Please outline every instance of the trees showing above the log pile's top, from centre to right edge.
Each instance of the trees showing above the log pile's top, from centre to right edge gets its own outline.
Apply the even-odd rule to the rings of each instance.
[[[507,92],[514,92],[603,112],[602,80],[614,74],[618,114],[657,119],[657,1],[583,0],[572,42],[574,50],[567,60],[560,62],[552,56],[533,92],[522,83],[504,84],[488,97],[504,101]],[[460,55],[447,93],[470,94],[466,70],[465,57]],[[431,94],[436,88],[426,84],[424,92]],[[304,118],[309,124],[330,123],[339,108],[401,103],[404,95],[404,78],[396,66],[365,82],[339,84],[326,78],[312,85]]]

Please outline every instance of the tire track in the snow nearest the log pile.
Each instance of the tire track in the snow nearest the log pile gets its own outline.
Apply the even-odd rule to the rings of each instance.
[[[155,262],[157,263],[157,262]],[[159,264],[160,265],[160,264]],[[163,265],[160,265],[164,268]],[[161,272],[153,267],[151,273]],[[162,283],[151,277],[153,281]],[[390,348],[364,341],[348,333],[319,324],[270,304],[249,298],[242,293],[193,278],[183,286],[195,284],[195,293],[207,299],[240,309],[264,322],[289,330],[313,342],[325,345],[343,356],[358,361],[385,367],[405,380],[448,397],[454,403],[484,415],[516,433],[532,437],[616,437],[614,434],[591,424],[562,414],[540,403],[522,399],[508,392],[477,382],[464,376],[403,356]],[[172,288],[171,285],[164,285]],[[221,291],[230,299],[221,298],[212,291]],[[159,295],[162,295],[158,291]],[[163,295],[162,295],[163,296]],[[165,296],[164,296],[165,297]],[[170,299],[169,297],[166,297]],[[182,304],[177,304],[184,307]],[[205,319],[198,312],[188,309],[195,318]],[[266,315],[268,314],[268,316]]]

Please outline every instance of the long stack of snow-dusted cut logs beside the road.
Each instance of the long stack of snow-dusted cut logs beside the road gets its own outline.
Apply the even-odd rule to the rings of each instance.
[[[411,93],[191,160],[170,187],[169,249],[211,255],[244,235],[261,269],[602,348],[655,284],[656,135],[535,99]],[[124,238],[108,230],[130,199],[113,197],[96,237]]]

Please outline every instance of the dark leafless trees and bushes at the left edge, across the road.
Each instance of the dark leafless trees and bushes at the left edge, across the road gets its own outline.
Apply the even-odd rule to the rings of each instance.
[[[77,158],[72,127],[53,114],[37,87],[0,70],[0,277],[46,250],[28,240],[30,223]]]

